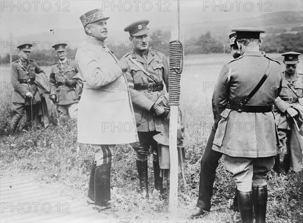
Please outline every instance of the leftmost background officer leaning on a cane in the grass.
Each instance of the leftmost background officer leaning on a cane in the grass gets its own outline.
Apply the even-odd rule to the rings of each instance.
[[[32,121],[38,122],[38,111],[41,109],[41,97],[36,86],[36,73],[44,73],[36,62],[29,59],[32,44],[17,46],[20,58],[12,63],[11,81],[13,92],[13,118],[11,132],[14,133],[18,123],[26,111],[26,123],[24,129],[32,126]],[[41,111],[41,110],[40,110]]]

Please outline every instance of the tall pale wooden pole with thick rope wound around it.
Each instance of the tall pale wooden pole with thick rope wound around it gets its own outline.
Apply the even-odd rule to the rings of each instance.
[[[180,79],[183,70],[183,46],[180,42],[180,0],[178,0],[178,40],[169,43],[169,105],[170,105],[170,221],[176,221],[178,205],[178,150],[177,126],[178,105],[180,104]],[[173,33],[172,33],[173,39]]]

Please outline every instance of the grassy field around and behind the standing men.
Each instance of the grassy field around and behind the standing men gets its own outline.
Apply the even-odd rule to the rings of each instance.
[[[268,55],[281,61],[279,54]],[[190,142],[186,145],[185,177],[187,187],[179,178],[178,218],[184,222],[231,222],[230,208],[235,192],[235,183],[220,163],[209,214],[188,219],[198,194],[200,158],[213,122],[211,98],[213,87],[222,64],[231,59],[230,54],[189,55],[181,80],[181,99],[186,107],[186,133]],[[43,67],[49,75],[50,67]],[[56,190],[62,195],[86,205],[86,193],[93,150],[90,145],[77,143],[76,124],[64,121],[56,126],[54,105],[47,99],[52,123],[47,129],[29,132],[19,131],[9,135],[7,127],[11,120],[10,68],[0,67],[1,72],[1,173],[26,176],[41,187]],[[22,123],[21,123],[22,124]],[[18,167],[20,168],[16,168]],[[168,221],[169,180],[166,198],[160,200],[153,194],[154,175],[152,160],[149,160],[149,199],[138,197],[138,178],[135,152],[130,145],[117,145],[111,172],[112,200],[121,205],[115,213],[118,222],[166,222]],[[302,179],[296,173],[268,176],[268,222],[301,222],[303,219]],[[47,202],[47,201],[45,201]],[[101,215],[100,215],[101,216]],[[105,221],[104,215],[100,221]]]

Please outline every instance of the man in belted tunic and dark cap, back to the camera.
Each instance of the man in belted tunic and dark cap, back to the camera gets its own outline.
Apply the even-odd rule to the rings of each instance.
[[[252,222],[253,206],[256,222],[265,222],[266,175],[274,166],[279,144],[272,108],[282,71],[279,62],[259,51],[264,30],[232,31],[241,56],[223,66],[216,83],[214,102],[222,118],[212,149],[224,154],[225,167],[236,182],[242,222]]]

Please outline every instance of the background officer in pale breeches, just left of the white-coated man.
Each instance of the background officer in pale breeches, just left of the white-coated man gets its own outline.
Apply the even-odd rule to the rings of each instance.
[[[81,80],[76,78],[78,69],[76,62],[66,57],[67,44],[59,43],[53,46],[58,61],[54,63],[49,76],[51,85],[51,100],[57,105],[60,117],[68,116],[72,119],[78,115],[78,101]],[[76,77],[75,77],[76,76]]]

